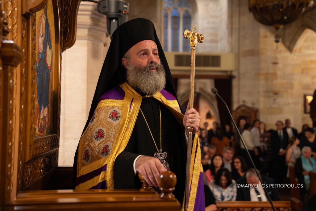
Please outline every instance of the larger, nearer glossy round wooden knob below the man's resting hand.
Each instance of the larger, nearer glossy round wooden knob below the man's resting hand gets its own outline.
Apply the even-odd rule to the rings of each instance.
[[[158,178],[161,199],[175,199],[172,194],[174,186],[177,184],[177,177],[173,172],[162,172]]]

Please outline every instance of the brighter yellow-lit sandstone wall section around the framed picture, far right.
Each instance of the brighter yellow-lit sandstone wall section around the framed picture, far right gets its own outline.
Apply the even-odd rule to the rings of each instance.
[[[274,35],[260,26],[260,119],[274,128],[278,119],[290,118],[301,130],[302,124],[312,126],[303,96],[316,88],[316,33],[306,29],[292,53],[283,43],[277,49]]]

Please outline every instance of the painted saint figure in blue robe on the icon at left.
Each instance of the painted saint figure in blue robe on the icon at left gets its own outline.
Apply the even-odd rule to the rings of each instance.
[[[40,114],[37,120],[37,129],[39,132],[44,132],[47,126],[49,83],[52,71],[52,42],[47,18],[47,5],[44,8],[44,13],[40,16],[37,40],[36,84]]]

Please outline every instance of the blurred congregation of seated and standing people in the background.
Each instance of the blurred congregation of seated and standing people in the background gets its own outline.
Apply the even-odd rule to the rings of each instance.
[[[312,207],[309,194],[315,181],[309,174],[316,173],[316,121],[313,127],[304,124],[296,129],[290,119],[278,120],[274,130],[266,130],[259,119],[248,122],[240,116],[237,127],[238,131],[230,124],[222,128],[217,122],[205,122],[198,132],[206,210],[217,201],[268,201],[264,186],[272,201],[281,200],[282,190],[299,188],[299,200],[305,208]],[[285,197],[282,200],[289,200],[288,194]]]

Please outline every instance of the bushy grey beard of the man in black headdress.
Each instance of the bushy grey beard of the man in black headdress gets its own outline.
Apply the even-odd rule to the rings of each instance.
[[[155,67],[156,71],[149,71]],[[166,73],[162,64],[150,63],[145,67],[130,63],[126,69],[126,81],[134,89],[153,95],[166,86]]]

